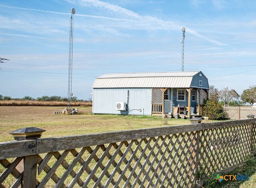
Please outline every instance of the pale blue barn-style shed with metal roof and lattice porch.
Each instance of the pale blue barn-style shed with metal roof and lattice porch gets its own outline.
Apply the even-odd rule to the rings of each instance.
[[[104,74],[92,86],[92,113],[162,115],[200,112],[208,98],[201,71]]]

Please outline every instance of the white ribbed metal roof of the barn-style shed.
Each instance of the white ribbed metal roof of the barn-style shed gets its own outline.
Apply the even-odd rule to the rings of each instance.
[[[189,88],[193,76],[199,72],[104,74],[96,78],[92,88]]]

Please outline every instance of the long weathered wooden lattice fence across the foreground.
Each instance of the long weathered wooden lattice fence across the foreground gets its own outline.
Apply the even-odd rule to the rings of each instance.
[[[0,143],[0,187],[190,187],[252,156],[256,119]]]

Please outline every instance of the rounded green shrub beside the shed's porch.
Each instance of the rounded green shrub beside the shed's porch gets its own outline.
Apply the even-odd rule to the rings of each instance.
[[[214,120],[228,119],[228,114],[216,100],[207,100],[202,107],[202,114]]]

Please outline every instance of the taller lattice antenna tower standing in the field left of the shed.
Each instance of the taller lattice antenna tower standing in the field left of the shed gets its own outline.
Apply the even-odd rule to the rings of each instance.
[[[73,17],[72,15],[76,14],[74,8],[71,9],[70,17],[70,36],[69,36],[69,58],[68,58],[68,110],[71,108],[71,99],[74,97],[72,93],[72,66],[73,66]]]

